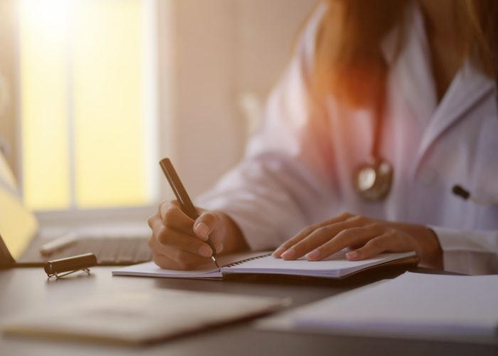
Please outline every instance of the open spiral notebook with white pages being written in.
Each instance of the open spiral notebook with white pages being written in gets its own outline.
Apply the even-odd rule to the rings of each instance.
[[[164,278],[202,278],[221,279],[228,274],[270,274],[287,276],[309,276],[323,278],[344,278],[354,273],[378,266],[416,265],[415,252],[381,253],[380,255],[363,261],[348,261],[345,250],[334,253],[322,261],[307,261],[300,258],[296,261],[284,261],[273,258],[270,251],[237,253],[219,256],[220,269],[213,263],[201,266],[195,271],[177,271],[159,268],[154,262],[140,263],[112,271],[113,276],[147,276]]]

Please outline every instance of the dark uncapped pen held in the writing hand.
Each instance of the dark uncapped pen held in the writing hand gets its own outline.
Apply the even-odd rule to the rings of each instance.
[[[178,174],[176,174],[171,161],[168,158],[164,158],[159,161],[159,165],[161,166],[166,179],[168,179],[169,185],[171,186],[171,189],[173,189],[176,199],[178,199],[178,201],[180,202],[181,211],[183,211],[191,219],[196,220],[199,217],[199,214],[194,204],[192,204],[189,194],[187,194],[185,190],[184,184],[181,183],[180,177],[178,177]],[[220,268],[220,266],[218,266],[218,262],[216,261],[216,248],[214,247],[210,239],[206,240],[206,244],[208,244],[213,251],[213,254],[211,255],[211,261],[216,264],[216,267]]]

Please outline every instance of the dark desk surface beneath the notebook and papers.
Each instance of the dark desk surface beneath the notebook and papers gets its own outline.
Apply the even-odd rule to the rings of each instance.
[[[112,277],[112,268],[94,267],[92,275],[47,281],[42,268],[0,271],[0,323],[25,309],[119,290],[170,288],[248,295],[290,296],[293,306],[365,285],[386,276],[346,281],[244,278],[242,281],[194,281]],[[419,270],[420,271],[420,270]],[[391,273],[392,274],[392,273]],[[498,355],[498,347],[341,335],[301,335],[255,330],[250,322],[197,333],[147,347],[60,342],[0,335],[0,355]]]

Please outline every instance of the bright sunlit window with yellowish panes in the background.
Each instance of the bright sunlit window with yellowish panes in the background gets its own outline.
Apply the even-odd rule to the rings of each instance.
[[[19,1],[21,180],[31,209],[154,203],[154,6]]]

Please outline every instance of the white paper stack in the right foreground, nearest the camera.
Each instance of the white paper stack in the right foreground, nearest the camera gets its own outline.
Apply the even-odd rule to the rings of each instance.
[[[270,318],[261,327],[498,343],[498,276],[407,272]]]

